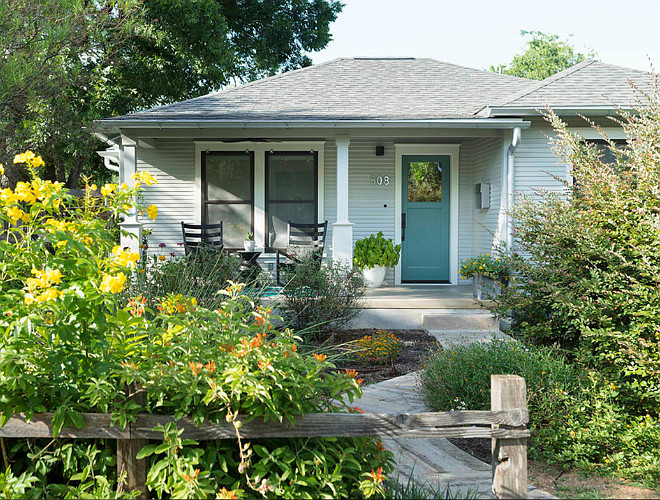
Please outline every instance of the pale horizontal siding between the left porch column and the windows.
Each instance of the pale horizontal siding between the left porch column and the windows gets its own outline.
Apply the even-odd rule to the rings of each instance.
[[[151,221],[142,217],[144,227],[150,229],[149,246],[153,249],[165,243],[166,252],[182,252],[181,221],[194,222],[197,197],[195,183],[195,147],[192,140],[157,140],[155,149],[138,148],[138,171],[149,170],[158,184],[146,186],[145,205],[158,207],[158,217]]]

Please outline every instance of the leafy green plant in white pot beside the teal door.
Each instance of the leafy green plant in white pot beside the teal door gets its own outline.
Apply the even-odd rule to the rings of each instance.
[[[385,279],[388,267],[399,263],[401,245],[394,245],[391,239],[385,239],[383,232],[370,235],[355,242],[353,265],[362,269],[368,288],[377,288]]]

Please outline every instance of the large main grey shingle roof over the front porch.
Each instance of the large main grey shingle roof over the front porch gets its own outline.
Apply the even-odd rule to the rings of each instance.
[[[433,59],[347,58],[111,120],[473,118],[488,103],[535,84]]]

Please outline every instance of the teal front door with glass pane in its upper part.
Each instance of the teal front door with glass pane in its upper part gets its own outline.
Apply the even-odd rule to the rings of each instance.
[[[449,156],[403,157],[401,282],[449,282]]]

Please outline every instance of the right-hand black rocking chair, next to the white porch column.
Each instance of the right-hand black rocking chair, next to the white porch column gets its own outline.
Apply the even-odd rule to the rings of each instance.
[[[321,266],[328,221],[318,224],[289,222],[287,224],[287,247],[277,249],[276,279],[280,285],[281,271],[290,272],[304,258],[311,258]]]

